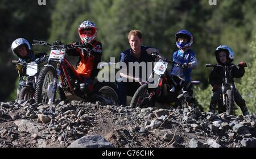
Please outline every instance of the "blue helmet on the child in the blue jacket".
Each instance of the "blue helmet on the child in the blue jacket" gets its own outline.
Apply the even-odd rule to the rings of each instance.
[[[187,39],[187,43],[184,43],[184,42],[179,43],[178,39],[180,37]],[[176,33],[176,45],[179,49],[189,48],[191,47],[192,44],[193,44],[193,35],[191,34],[191,32],[187,30],[181,30]]]

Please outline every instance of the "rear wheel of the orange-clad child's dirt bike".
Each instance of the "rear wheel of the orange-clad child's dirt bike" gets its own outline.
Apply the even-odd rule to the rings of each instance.
[[[94,93],[97,95],[96,100],[109,105],[118,105],[118,96],[115,91],[115,85],[111,82],[102,82],[96,85]]]

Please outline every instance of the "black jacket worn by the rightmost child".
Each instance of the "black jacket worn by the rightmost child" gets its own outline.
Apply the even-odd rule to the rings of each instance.
[[[233,64],[229,63],[226,65],[231,66]],[[245,68],[243,67],[238,69],[236,66],[234,66],[232,68],[229,68],[228,70],[233,78],[241,78],[243,77],[243,74],[245,74]],[[209,76],[210,85],[214,86],[217,84],[220,86],[222,81],[224,80],[224,76],[225,76],[224,68],[221,68],[221,67],[213,68]],[[233,80],[230,82],[234,83]]]

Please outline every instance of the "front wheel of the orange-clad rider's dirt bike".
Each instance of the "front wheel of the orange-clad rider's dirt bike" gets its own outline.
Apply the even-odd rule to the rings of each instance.
[[[53,84],[55,70],[51,67],[44,67],[39,74],[38,82],[36,83],[36,103],[47,104],[49,101],[47,92]]]

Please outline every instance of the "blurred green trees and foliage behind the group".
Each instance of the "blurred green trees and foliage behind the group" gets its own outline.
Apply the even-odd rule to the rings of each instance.
[[[6,100],[16,87],[18,75],[9,62],[15,58],[10,49],[14,39],[25,37],[30,42],[39,39],[72,43],[80,39],[77,28],[86,19],[97,24],[97,39],[103,45],[102,60],[106,62],[110,57],[116,57],[117,62],[120,52],[129,48],[127,34],[132,29],[142,31],[143,45],[158,48],[169,59],[177,49],[175,33],[183,28],[191,31],[194,36],[192,49],[199,60],[192,79],[200,80],[202,91],[208,92],[210,70],[204,65],[216,62],[213,50],[218,45],[233,48],[234,62],[242,59],[253,64],[254,58],[249,55],[256,33],[255,6],[254,0],[217,1],[217,6],[210,6],[205,0],[51,0],[47,1],[47,6],[39,6],[37,1],[2,0],[0,73],[6,77],[1,77],[0,82],[6,85],[0,88],[0,101]],[[48,50],[46,47],[33,49]],[[253,71],[250,69],[246,72]],[[245,76],[246,80],[253,78]],[[209,98],[207,94],[202,95],[198,98],[208,105],[210,95]]]

